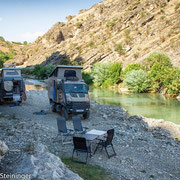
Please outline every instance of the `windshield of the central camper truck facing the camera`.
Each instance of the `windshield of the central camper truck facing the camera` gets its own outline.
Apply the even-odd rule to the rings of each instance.
[[[88,93],[88,86],[86,84],[65,84],[65,93]]]

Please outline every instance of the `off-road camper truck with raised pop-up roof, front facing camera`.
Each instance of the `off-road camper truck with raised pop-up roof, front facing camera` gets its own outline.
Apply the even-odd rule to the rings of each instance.
[[[52,111],[60,111],[68,119],[69,114],[89,117],[89,87],[82,79],[78,66],[57,66],[48,78],[48,97]]]

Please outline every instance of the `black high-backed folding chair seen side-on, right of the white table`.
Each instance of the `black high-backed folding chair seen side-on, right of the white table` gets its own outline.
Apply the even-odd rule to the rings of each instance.
[[[103,148],[105,148],[105,151],[108,155],[108,158],[112,157],[112,156],[115,156],[116,155],[116,152],[114,150],[114,147],[113,147],[113,144],[112,144],[112,140],[113,140],[113,137],[114,137],[114,129],[110,129],[107,131],[107,137],[106,137],[106,140],[101,140],[99,139],[99,142],[97,143],[97,146],[96,146],[96,149],[94,151],[94,154],[96,153],[98,147],[101,146],[101,151],[103,150]],[[109,155],[108,151],[107,151],[107,148],[108,147],[112,147],[112,150],[113,150],[113,154],[112,155]]]

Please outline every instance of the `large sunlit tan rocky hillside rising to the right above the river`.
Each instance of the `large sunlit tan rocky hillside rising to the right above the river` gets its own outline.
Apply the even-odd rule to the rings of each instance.
[[[180,66],[179,15],[178,1],[105,0],[56,23],[13,61],[25,67],[69,58],[88,70],[99,61],[127,66],[160,51]]]

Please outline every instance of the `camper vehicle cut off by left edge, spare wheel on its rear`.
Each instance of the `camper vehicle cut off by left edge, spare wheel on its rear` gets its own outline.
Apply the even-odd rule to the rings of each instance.
[[[0,72],[0,102],[22,102],[25,85],[21,69],[2,68]]]

